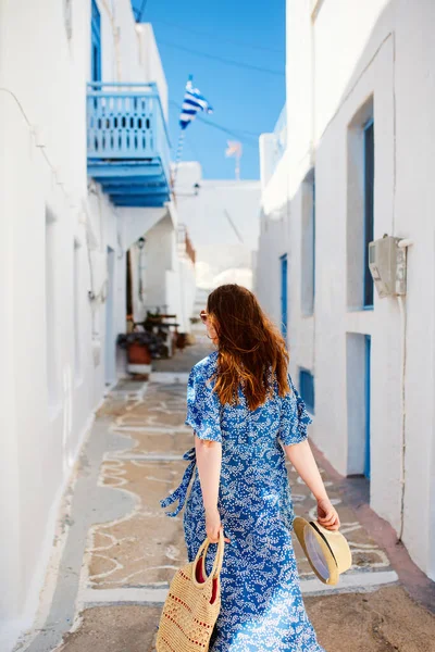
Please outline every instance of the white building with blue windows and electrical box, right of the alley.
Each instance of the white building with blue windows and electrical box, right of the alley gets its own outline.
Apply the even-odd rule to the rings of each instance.
[[[339,473],[370,478],[372,509],[432,579],[434,24],[431,0],[287,0],[256,286],[287,327],[314,442]],[[403,300],[373,291],[368,242],[384,234],[413,241]]]

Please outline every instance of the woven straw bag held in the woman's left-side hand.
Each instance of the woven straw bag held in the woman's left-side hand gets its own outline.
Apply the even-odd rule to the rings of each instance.
[[[212,570],[206,575],[206,538],[194,562],[173,577],[160,617],[157,652],[207,652],[221,609],[220,573],[224,557],[224,536],[220,530]],[[202,554],[203,553],[203,554]],[[202,555],[202,557],[201,557]]]

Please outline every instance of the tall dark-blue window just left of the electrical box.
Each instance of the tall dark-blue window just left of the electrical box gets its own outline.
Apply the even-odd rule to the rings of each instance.
[[[374,123],[364,125],[364,308],[373,306],[373,278],[369,269],[369,242],[373,240]]]

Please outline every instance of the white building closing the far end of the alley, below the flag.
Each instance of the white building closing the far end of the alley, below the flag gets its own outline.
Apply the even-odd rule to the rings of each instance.
[[[198,288],[237,283],[251,289],[260,183],[203,179],[200,164],[189,161],[178,166],[175,192],[179,220],[195,242]]]

